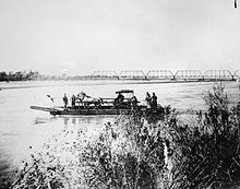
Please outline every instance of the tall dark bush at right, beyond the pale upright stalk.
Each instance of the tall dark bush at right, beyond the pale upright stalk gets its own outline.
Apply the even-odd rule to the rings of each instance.
[[[195,126],[176,128],[169,188],[230,188],[240,181],[240,128],[236,107],[229,109],[221,85],[203,95],[209,106]],[[181,126],[182,127],[182,126]],[[180,127],[180,128],[181,128]],[[172,133],[172,132],[170,132]]]

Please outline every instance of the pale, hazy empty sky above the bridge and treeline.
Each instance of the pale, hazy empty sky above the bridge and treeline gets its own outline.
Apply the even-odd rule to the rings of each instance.
[[[233,0],[0,0],[0,71],[240,69]]]

